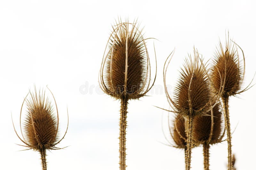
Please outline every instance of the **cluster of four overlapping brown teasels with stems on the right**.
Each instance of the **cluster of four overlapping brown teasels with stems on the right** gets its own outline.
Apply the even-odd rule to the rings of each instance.
[[[228,141],[228,170],[232,169],[228,97],[252,87],[251,82],[241,90],[245,61],[241,66],[238,49],[242,51],[244,60],[243,50],[228,37],[225,47],[220,43],[220,47],[217,48],[211,68],[207,68],[207,63],[204,63],[203,58],[199,58],[197,50],[194,49],[194,57],[189,56],[185,59],[172,97],[166,87],[166,70],[173,52],[166,59],[163,72],[164,87],[167,100],[172,107],[170,112],[177,114],[172,131],[170,126],[169,129],[175,142],[174,146],[186,150],[186,170],[190,169],[191,148],[200,144],[204,146],[204,169],[209,169],[209,146],[221,142],[225,131]],[[220,110],[222,107],[223,114]],[[222,115],[225,120],[224,129]]]

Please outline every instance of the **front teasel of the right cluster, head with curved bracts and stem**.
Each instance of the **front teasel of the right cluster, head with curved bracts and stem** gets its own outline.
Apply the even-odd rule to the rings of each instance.
[[[206,69],[203,59],[199,60],[198,51],[194,49],[194,57],[191,55],[185,59],[185,64],[181,68],[180,76],[176,87],[174,88],[173,98],[167,91],[166,71],[172,59],[173,51],[164,63],[164,88],[167,100],[174,113],[180,114],[188,123],[187,127],[187,151],[186,151],[186,170],[190,169],[191,149],[192,149],[192,129],[193,120],[196,116],[207,115],[216,101],[222,94],[220,84],[219,91],[213,93],[212,82],[209,69]],[[169,61],[168,61],[169,60]]]

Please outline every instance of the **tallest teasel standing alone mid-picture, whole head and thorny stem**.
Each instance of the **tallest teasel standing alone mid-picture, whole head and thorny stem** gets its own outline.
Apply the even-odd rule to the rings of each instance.
[[[152,88],[151,67],[146,40],[137,21],[116,21],[105,48],[99,84],[108,95],[121,101],[119,165],[126,168],[126,127],[127,105],[131,99],[139,99]]]

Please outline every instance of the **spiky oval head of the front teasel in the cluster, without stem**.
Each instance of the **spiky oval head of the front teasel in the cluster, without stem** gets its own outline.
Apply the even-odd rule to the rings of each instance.
[[[173,94],[174,107],[183,116],[202,115],[215,104],[216,97],[211,90],[208,73],[202,59],[199,61],[198,51],[194,50],[194,58],[186,58],[181,68]]]

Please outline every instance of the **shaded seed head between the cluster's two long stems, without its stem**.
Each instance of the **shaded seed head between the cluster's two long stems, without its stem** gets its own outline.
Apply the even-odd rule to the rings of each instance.
[[[202,144],[209,141],[210,144],[218,143],[222,131],[222,119],[220,112],[220,103],[216,104],[213,109],[213,122],[211,116],[197,116],[194,119],[193,139],[195,143]],[[211,115],[211,111],[207,113]],[[211,126],[213,123],[212,135]]]

